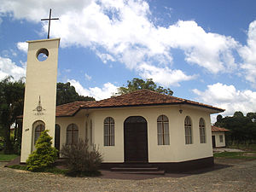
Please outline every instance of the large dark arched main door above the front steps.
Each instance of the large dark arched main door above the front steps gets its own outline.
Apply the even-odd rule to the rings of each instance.
[[[131,116],[124,123],[125,162],[148,162],[147,120]]]

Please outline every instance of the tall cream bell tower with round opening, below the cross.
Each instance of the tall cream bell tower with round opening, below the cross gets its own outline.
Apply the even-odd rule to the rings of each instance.
[[[55,143],[55,105],[60,38],[27,41],[26,88],[20,162],[35,149],[41,131]]]

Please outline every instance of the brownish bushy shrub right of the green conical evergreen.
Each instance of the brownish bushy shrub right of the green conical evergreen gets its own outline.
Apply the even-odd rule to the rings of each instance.
[[[68,174],[71,176],[94,176],[100,174],[98,170],[102,163],[102,154],[95,146],[92,150],[89,150],[88,140],[79,139],[78,143],[62,145],[61,155],[67,158]]]

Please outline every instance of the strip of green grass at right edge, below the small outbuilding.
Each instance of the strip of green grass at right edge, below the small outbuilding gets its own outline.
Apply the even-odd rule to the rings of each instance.
[[[256,152],[222,152],[213,154],[215,158],[256,160]]]

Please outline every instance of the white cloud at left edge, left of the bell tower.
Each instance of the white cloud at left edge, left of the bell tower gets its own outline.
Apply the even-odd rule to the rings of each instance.
[[[0,79],[12,76],[15,80],[19,80],[26,76],[26,66],[19,67],[9,58],[0,56]]]

